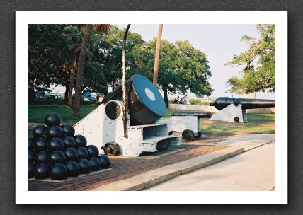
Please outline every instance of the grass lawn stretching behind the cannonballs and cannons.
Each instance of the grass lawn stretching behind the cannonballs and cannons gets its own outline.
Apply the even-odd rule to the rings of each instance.
[[[80,108],[80,118],[72,117],[72,108],[62,104],[47,103],[28,105],[28,122],[44,123],[45,116],[57,112],[62,117],[63,124],[74,124],[88,115],[100,105],[99,103],[84,103]],[[171,116],[174,110],[168,110],[164,117]],[[210,136],[230,136],[235,134],[275,134],[275,114],[248,113],[247,123],[233,123],[202,119],[202,134]],[[29,131],[30,134],[30,131]]]

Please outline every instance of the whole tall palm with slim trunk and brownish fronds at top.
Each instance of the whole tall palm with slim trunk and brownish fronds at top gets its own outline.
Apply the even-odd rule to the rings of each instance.
[[[103,25],[91,25],[86,24],[84,28],[84,36],[82,39],[81,51],[79,55],[79,62],[76,74],[76,90],[74,95],[74,105],[73,105],[73,117],[79,117],[79,110],[80,110],[80,99],[81,99],[81,92],[82,92],[82,83],[83,83],[83,76],[84,76],[84,65],[85,65],[85,58],[86,58],[86,50],[88,47],[88,40],[91,35],[91,28],[96,28],[97,33],[106,33],[110,29],[110,25],[103,24]],[[79,30],[83,28],[83,25],[78,25]],[[72,89],[70,89],[72,91]]]

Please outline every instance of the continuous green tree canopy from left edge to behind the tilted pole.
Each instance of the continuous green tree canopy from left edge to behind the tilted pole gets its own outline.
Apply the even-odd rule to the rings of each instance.
[[[84,66],[82,89],[106,95],[108,87],[122,79],[122,39],[125,30],[112,26],[108,33],[91,30]],[[77,25],[28,25],[28,86],[69,86],[70,75],[76,81],[73,66],[79,60],[84,30]],[[143,74],[152,79],[156,38],[145,42],[141,35],[129,32],[125,48],[127,77]],[[73,70],[74,69],[74,70]],[[158,87],[168,93],[188,90],[210,95],[210,73],[206,55],[189,41],[161,42]],[[74,86],[73,86],[74,88]],[[69,89],[72,90],[72,89]],[[68,95],[68,93],[66,94]]]

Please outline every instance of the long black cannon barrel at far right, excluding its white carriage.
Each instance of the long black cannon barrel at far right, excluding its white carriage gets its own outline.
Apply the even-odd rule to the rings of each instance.
[[[215,102],[210,103],[210,106],[214,106],[217,110],[222,110],[228,105],[242,105],[242,109],[256,109],[256,108],[274,108],[275,100],[270,99],[253,99],[253,98],[229,98],[219,97]]]

